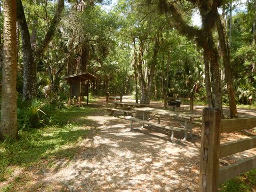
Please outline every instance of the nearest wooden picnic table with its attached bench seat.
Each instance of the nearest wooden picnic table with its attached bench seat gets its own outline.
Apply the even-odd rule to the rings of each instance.
[[[173,141],[174,131],[184,131],[185,135],[184,135],[183,140],[186,140],[187,132],[189,129],[189,136],[190,136],[190,138],[192,138],[192,125],[191,124],[193,123],[193,119],[202,117],[201,114],[193,114],[193,113],[189,113],[189,112],[180,112],[180,111],[168,111],[168,110],[156,109],[156,108],[152,108],[152,107],[134,108],[134,110],[135,110],[135,115],[133,117],[132,116],[125,117],[125,119],[128,119],[131,121],[131,128],[132,128],[132,122],[137,121],[137,122],[141,122],[142,126],[144,126],[144,124],[148,124],[148,125],[152,125],[154,127],[160,127],[164,130],[170,130],[170,131],[172,131],[172,134],[171,134],[172,141]],[[143,119],[137,118],[137,115],[139,112],[143,113]],[[154,114],[153,116],[158,117],[158,123],[149,122],[149,120],[151,119],[150,114]],[[166,125],[160,124],[160,121],[159,121],[160,117],[164,117],[164,118],[168,118],[168,119],[174,118],[177,122],[179,122],[179,124],[182,125],[182,128],[174,127],[174,126],[166,126]],[[182,124],[181,121],[185,122],[185,124]]]

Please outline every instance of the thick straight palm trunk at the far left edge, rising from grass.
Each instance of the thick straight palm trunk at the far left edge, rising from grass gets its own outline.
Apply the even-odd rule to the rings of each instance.
[[[16,139],[17,129],[17,3],[4,1],[4,65],[0,138]]]

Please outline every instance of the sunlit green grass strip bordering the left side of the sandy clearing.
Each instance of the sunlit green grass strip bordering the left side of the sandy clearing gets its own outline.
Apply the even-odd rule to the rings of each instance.
[[[0,142],[0,182],[10,177],[13,167],[31,167],[45,161],[51,166],[51,161],[56,158],[73,158],[80,149],[76,144],[89,133],[85,126],[96,124],[86,119],[95,111],[97,109],[90,107],[62,109],[55,113],[50,126],[19,131],[17,141]],[[7,191],[11,187],[5,186],[2,190]]]

